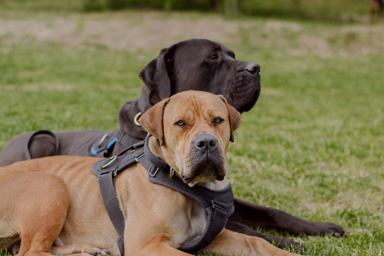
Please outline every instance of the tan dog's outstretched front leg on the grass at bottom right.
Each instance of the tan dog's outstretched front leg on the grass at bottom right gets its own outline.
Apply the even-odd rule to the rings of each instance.
[[[224,229],[204,250],[228,256],[299,256],[299,254],[279,249],[262,238],[247,236],[227,229]]]

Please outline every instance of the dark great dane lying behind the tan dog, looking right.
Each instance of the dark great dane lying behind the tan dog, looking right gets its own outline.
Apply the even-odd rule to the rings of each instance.
[[[201,39],[181,41],[161,50],[140,72],[144,82],[140,99],[129,101],[119,112],[120,129],[115,132],[84,130],[35,134],[31,132],[13,138],[0,153],[0,166],[26,160],[25,148],[30,157],[50,155],[81,155],[108,157],[116,155],[129,145],[146,137],[136,124],[140,112],[177,92],[200,90],[222,94],[239,112],[250,110],[260,94],[260,66],[238,61],[233,51],[224,45]],[[59,145],[58,148],[56,146]],[[27,153],[29,154],[29,153]],[[290,239],[265,235],[254,228],[288,231],[293,235],[332,234],[346,232],[331,223],[301,220],[280,210],[254,205],[235,198],[235,213],[226,228],[239,233],[272,240],[278,247],[300,246]],[[301,246],[301,248],[304,248]]]

